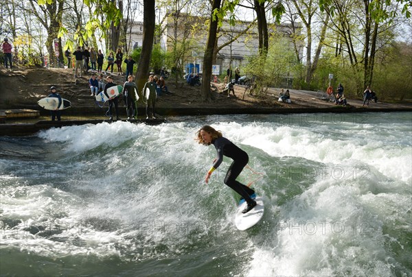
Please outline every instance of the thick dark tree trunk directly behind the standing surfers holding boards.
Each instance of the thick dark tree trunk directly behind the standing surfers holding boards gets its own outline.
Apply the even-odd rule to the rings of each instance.
[[[136,84],[139,91],[148,80],[150,58],[152,56],[153,40],[155,39],[155,0],[144,1],[143,15],[143,45],[136,73]]]

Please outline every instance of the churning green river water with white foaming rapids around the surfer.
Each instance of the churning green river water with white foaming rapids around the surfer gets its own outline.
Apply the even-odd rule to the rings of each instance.
[[[212,125],[264,197],[233,224]],[[0,274],[412,276],[412,114],[225,115],[0,138]]]

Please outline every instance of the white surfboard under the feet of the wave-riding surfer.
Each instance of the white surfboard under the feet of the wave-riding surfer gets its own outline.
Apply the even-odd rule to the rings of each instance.
[[[247,202],[243,202],[236,208],[235,225],[238,230],[247,230],[255,224],[258,224],[263,217],[264,205],[262,197],[256,197],[256,206],[247,213],[242,213],[242,210],[247,206]]]

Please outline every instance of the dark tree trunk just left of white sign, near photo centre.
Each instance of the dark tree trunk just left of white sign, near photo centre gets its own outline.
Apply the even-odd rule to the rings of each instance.
[[[204,101],[211,100],[210,94],[210,78],[211,78],[211,66],[213,63],[213,51],[216,45],[216,34],[218,30],[218,19],[214,19],[213,12],[216,9],[220,9],[221,0],[213,0],[211,5],[210,26],[209,35],[207,36],[206,51],[203,57],[203,77],[202,77],[202,96]]]

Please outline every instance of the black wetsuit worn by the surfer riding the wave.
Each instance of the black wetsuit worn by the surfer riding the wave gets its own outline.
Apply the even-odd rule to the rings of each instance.
[[[217,169],[220,163],[222,163],[223,156],[227,156],[233,160],[227,170],[225,184],[233,189],[233,191],[236,191],[242,195],[248,204],[254,202],[249,195],[252,195],[255,191],[236,181],[236,178],[238,178],[240,172],[242,172],[243,168],[247,165],[247,162],[249,162],[249,156],[247,153],[224,137],[215,139],[214,141],[211,141],[211,143],[214,144],[216,151],[218,152],[218,158],[213,165],[215,169]]]

